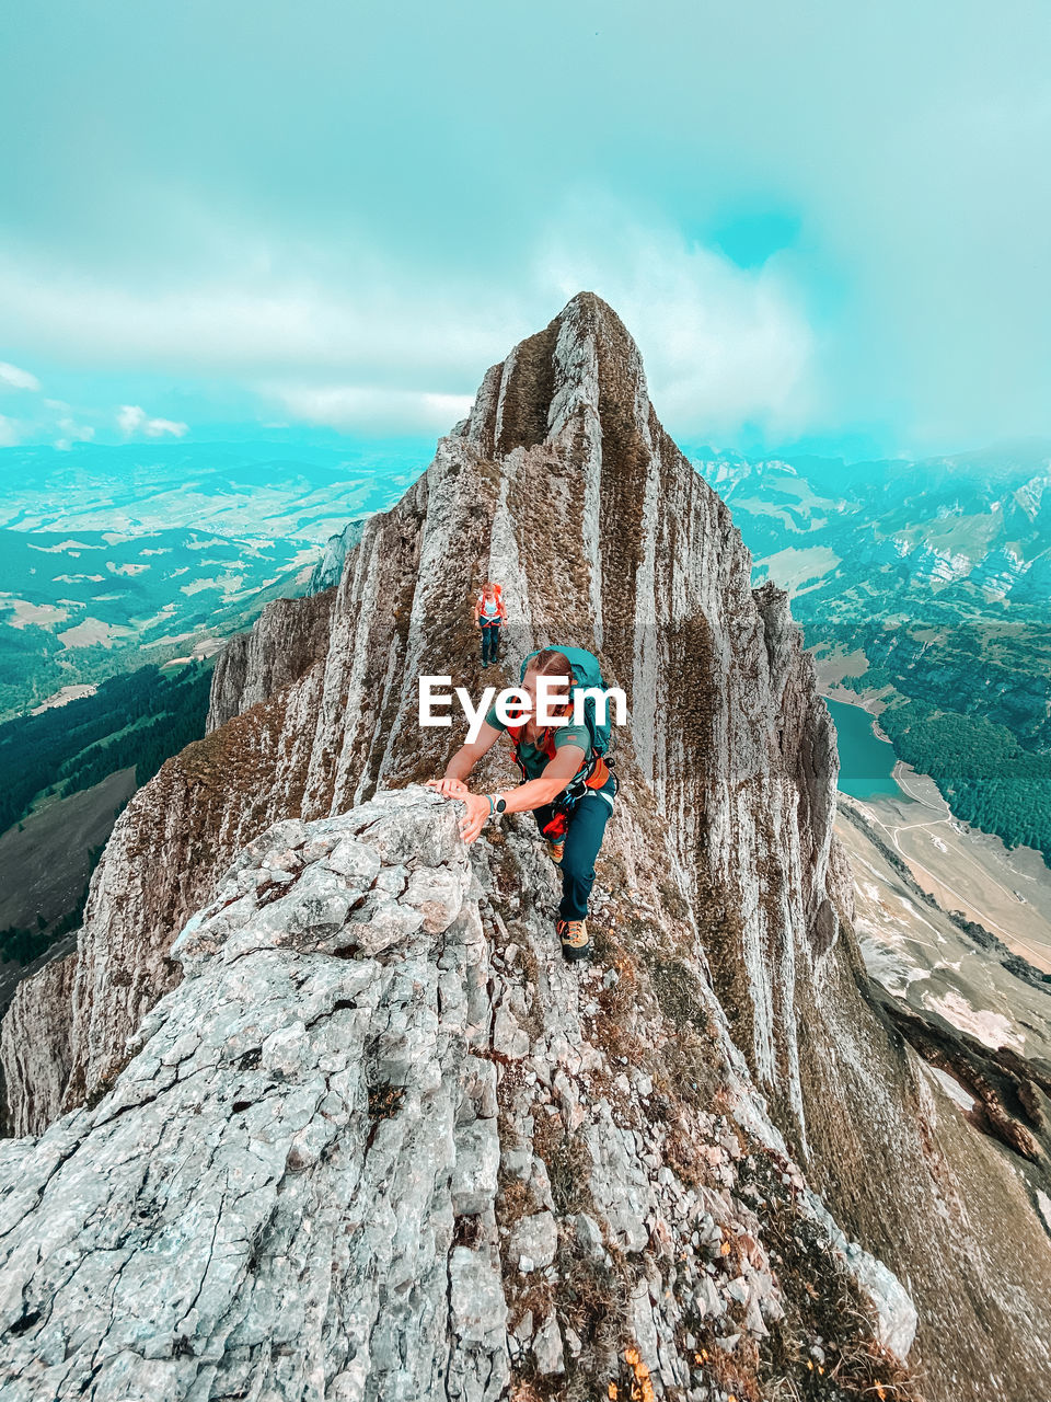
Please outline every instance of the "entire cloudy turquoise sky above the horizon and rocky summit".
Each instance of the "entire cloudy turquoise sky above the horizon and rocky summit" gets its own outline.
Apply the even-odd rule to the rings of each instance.
[[[1051,439],[1051,6],[0,0],[0,446],[432,436],[582,289],[682,443]]]

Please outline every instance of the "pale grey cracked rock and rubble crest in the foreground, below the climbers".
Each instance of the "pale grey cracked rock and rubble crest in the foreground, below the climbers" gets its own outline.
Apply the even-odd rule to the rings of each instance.
[[[566,969],[540,904],[504,923],[507,868],[551,903],[534,848],[472,869],[420,789],[245,848],[112,1091],[0,1147],[6,1398],[900,1382],[908,1295],[803,1186],[699,969],[722,1103],[668,1074],[666,973]]]

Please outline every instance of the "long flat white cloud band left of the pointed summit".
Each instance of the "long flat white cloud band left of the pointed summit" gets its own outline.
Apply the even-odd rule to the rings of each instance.
[[[235,243],[233,231],[228,237]],[[348,283],[328,271],[307,278],[294,255],[247,269],[247,255],[231,255],[219,275],[153,292],[0,248],[0,306],[22,341],[95,372],[135,365],[165,374],[233,373],[242,383],[296,372],[390,383],[433,379],[440,367],[446,379],[469,374],[474,388],[478,367],[507,349],[520,296],[474,279],[436,286],[405,268],[377,266],[366,248],[356,261],[367,271]],[[527,321],[520,329],[535,328]]]

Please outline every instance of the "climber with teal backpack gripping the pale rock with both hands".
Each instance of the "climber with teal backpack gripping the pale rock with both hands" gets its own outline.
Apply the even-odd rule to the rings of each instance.
[[[537,725],[538,677],[570,679],[569,700],[561,708],[552,708],[554,714],[569,718],[566,725]],[[572,695],[576,687],[603,687],[598,662],[590,652],[583,648],[545,648],[530,653],[521,665],[520,686],[530,698],[528,716],[517,725],[504,725],[496,705],[489,707],[478,739],[457,750],[444,777],[432,780],[429,785],[467,806],[460,831],[468,843],[474,843],[495,815],[530,810],[535,815],[548,854],[562,868],[562,901],[555,930],[562,941],[562,953],[570,962],[591,956],[587,901],[594,883],[594,861],[617,794],[612,760],[605,760],[608,719],[597,718],[590,700],[584,707],[584,723],[573,723]],[[503,730],[514,744],[523,782],[506,794],[472,794],[465,780]]]

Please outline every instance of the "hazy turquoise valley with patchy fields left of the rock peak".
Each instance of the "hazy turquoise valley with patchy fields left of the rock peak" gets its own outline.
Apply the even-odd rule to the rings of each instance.
[[[329,537],[426,457],[383,446],[4,450],[0,719],[143,663],[206,658],[301,594]]]

